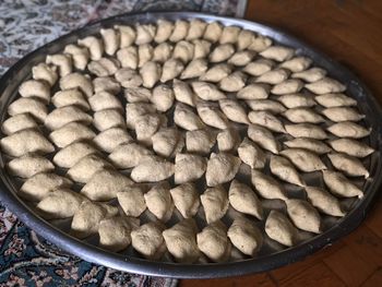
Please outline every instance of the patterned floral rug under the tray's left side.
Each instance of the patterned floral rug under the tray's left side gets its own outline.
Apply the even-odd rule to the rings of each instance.
[[[202,11],[241,17],[246,0],[1,0],[0,75],[27,52],[98,19],[129,11]],[[0,205],[0,286],[170,287],[177,280],[134,275],[70,255]]]

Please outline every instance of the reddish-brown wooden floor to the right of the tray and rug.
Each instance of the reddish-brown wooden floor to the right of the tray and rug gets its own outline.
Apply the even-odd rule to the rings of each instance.
[[[338,60],[382,104],[381,0],[250,0],[246,17],[289,32]],[[265,274],[179,286],[382,286],[382,196],[356,231],[305,261]]]

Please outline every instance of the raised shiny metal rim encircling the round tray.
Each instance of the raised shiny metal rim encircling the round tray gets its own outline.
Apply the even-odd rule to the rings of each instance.
[[[216,16],[208,13],[200,12],[142,12],[142,13],[123,13],[116,16],[111,16],[105,20],[99,20],[97,22],[91,23],[82,28],[75,29],[71,33],[68,33],[59,38],[37,48],[36,50],[29,52],[21,60],[19,60],[14,65],[12,65],[4,75],[0,79],[0,99],[2,99],[2,94],[8,86],[9,81],[22,69],[22,67],[32,61],[35,56],[44,52],[49,47],[60,44],[61,41],[69,39],[73,36],[85,36],[86,31],[91,28],[99,28],[99,26],[109,26],[116,21],[121,21],[126,19],[138,17],[142,22],[152,22],[159,17],[168,17],[170,20],[175,19],[201,19],[204,21],[219,21],[222,23],[237,24],[240,26],[251,26],[255,32],[267,35],[276,40],[283,38],[283,41],[287,41],[286,45],[291,45],[294,48],[298,46],[299,49],[302,49],[302,52],[309,52],[320,58],[323,61],[326,61],[325,64],[331,64],[334,68],[338,69],[344,73],[350,81],[351,84],[356,84],[360,92],[367,95],[368,100],[371,101],[371,109],[374,110],[375,115],[379,116],[373,120],[374,132],[379,140],[379,150],[382,147],[382,128],[378,125],[378,122],[382,122],[382,109],[379,101],[368,89],[368,87],[348,69],[334,61],[326,55],[312,48],[310,45],[305,41],[296,38],[295,36],[289,35],[288,33],[283,32],[279,28],[274,28],[270,25],[260,24],[256,22],[226,17],[226,16]],[[87,34],[86,34],[87,35]],[[285,43],[284,43],[285,44]],[[296,46],[296,47],[295,47]],[[62,47],[62,46],[61,46]],[[297,49],[297,48],[296,48]],[[381,152],[379,152],[379,159],[382,159]],[[0,154],[2,157],[2,153]],[[16,196],[11,191],[12,184],[9,181],[4,166],[1,166],[0,169],[0,200],[4,205],[14,213],[21,222],[27,225],[29,228],[35,230],[38,235],[43,236],[48,241],[55,243],[57,247],[65,250],[67,252],[80,256],[86,261],[105,265],[107,267],[112,267],[116,270],[136,273],[142,275],[151,276],[162,276],[162,277],[174,277],[174,278],[217,278],[217,277],[228,277],[228,276],[239,276],[250,273],[260,273],[270,271],[293,262],[299,261],[307,255],[323,249],[327,246],[331,246],[334,241],[338,240],[341,237],[344,237],[355,230],[360,223],[365,219],[367,212],[370,210],[373,200],[378,195],[379,188],[382,183],[381,170],[382,170],[382,160],[379,160],[378,166],[375,167],[374,181],[368,188],[368,194],[357,203],[357,207],[350,211],[344,219],[335,227],[332,227],[324,234],[315,236],[311,240],[308,240],[297,247],[285,249],[283,251],[273,253],[271,255],[254,258],[239,262],[228,262],[228,263],[211,263],[211,264],[180,264],[180,263],[166,263],[166,262],[153,262],[138,258],[129,258],[121,254],[116,254],[102,250],[95,246],[83,242],[79,239],[72,238],[65,232],[59,230],[57,227],[48,224],[46,220],[39,218],[21,199]]]

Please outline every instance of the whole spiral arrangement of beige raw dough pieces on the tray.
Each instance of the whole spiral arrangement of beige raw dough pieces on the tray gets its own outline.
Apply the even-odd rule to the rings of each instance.
[[[261,248],[255,222],[265,213],[259,195],[286,203],[289,218],[272,211],[265,222],[267,236],[285,246],[299,242],[297,228],[321,231],[317,210],[345,215],[332,193],[362,196],[344,175],[326,170],[320,156],[330,153],[332,165],[347,176],[368,177],[357,157],[373,150],[353,139],[370,131],[355,123],[362,119],[353,108],[356,101],[337,94],[345,86],[322,69],[309,69],[310,59],[250,31],[200,20],[116,26],[100,35],[68,45],[34,67],[34,80],[21,85],[22,97],[10,105],[12,117],[2,127],[9,135],[1,140],[2,150],[17,157],[9,163],[10,171],[27,179],[20,193],[39,201],[46,218],[73,216],[73,235],[98,232],[100,244],[115,251],[132,242],[150,259],[162,258],[167,247],[179,262],[198,261],[200,251],[219,262],[228,260],[231,243],[247,255]],[[92,75],[81,73],[85,69]],[[50,98],[59,76],[61,91]],[[126,109],[116,96],[121,86]],[[49,101],[56,107],[50,113]],[[43,122],[49,140],[38,130]],[[333,135],[349,137],[329,141],[338,153],[323,142],[329,136],[321,123],[330,123]],[[247,132],[243,140],[238,127]],[[279,134],[296,139],[284,142],[288,148],[282,151]],[[219,152],[211,154],[216,143]],[[55,150],[52,162],[68,169],[65,177],[52,174],[55,166],[43,157]],[[309,202],[288,199],[283,186],[260,171],[267,158],[272,175],[303,187]],[[252,169],[255,192],[234,179],[241,163]],[[132,180],[119,171],[130,168]],[[331,193],[306,187],[297,169],[324,170]],[[141,184],[172,175],[172,188]],[[204,175],[208,188],[200,196],[192,182]],[[84,183],[81,193],[71,190],[73,181]],[[222,186],[227,182],[228,191]],[[103,203],[116,198],[123,212]],[[220,219],[229,204],[251,219],[239,216],[227,229]],[[200,205],[207,226],[198,234],[192,217]],[[167,230],[158,222],[139,227],[134,218],[147,208],[166,223],[175,207],[184,220]]]

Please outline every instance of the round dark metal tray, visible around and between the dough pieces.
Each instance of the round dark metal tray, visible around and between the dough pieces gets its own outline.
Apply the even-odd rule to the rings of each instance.
[[[232,255],[227,263],[208,263],[205,261],[196,264],[174,263],[168,255],[165,255],[160,262],[144,260],[131,247],[121,253],[108,252],[97,247],[97,236],[91,237],[84,241],[70,236],[69,219],[47,222],[34,212],[33,204],[21,200],[16,195],[20,182],[8,175],[5,169],[7,156],[2,153],[0,153],[0,200],[37,234],[57,244],[59,248],[84,260],[131,273],[178,278],[227,277],[268,271],[301,260],[332,244],[335,240],[357,228],[363,220],[381,187],[382,158],[380,151],[382,151],[382,128],[380,123],[382,122],[382,109],[360,80],[336,61],[284,32],[259,23],[193,12],[159,12],[122,14],[87,25],[27,55],[3,75],[0,80],[0,122],[2,123],[7,118],[8,106],[17,96],[19,85],[31,77],[32,67],[44,61],[46,55],[61,51],[67,44],[74,43],[77,38],[97,34],[102,27],[111,27],[117,23],[132,25],[135,23],[155,23],[160,17],[171,21],[198,17],[206,22],[218,21],[224,25],[237,25],[246,29],[254,31],[271,37],[275,43],[295,48],[297,55],[311,58],[314,65],[327,70],[330,76],[346,84],[348,95],[358,100],[359,110],[366,115],[362,123],[372,128],[371,135],[368,137],[367,143],[377,151],[363,162],[370,170],[370,178],[356,182],[363,189],[365,196],[361,200],[342,200],[342,205],[347,211],[347,215],[343,218],[322,216],[323,232],[314,236],[301,231],[301,241],[298,246],[285,249],[264,236],[264,244],[255,258],[244,258],[240,255],[239,252],[235,252],[234,249]],[[285,139],[282,137],[279,140],[283,141]],[[325,162],[325,164],[330,165],[327,162]],[[268,170],[266,170],[266,172],[268,172]],[[240,169],[240,175],[238,177],[242,181],[249,181],[248,170]],[[323,186],[322,179],[318,174],[305,175],[303,179],[310,184]],[[201,192],[203,188],[204,187],[200,187]],[[291,184],[286,184],[286,189],[288,194],[291,194],[294,198],[303,196],[301,189],[295,189]],[[277,201],[263,201],[263,206],[266,213],[271,208],[285,210],[285,205]],[[235,211],[230,208],[223,220],[229,225],[235,216]],[[150,213],[146,212],[141,217],[141,222],[145,223],[151,219],[150,217]],[[175,213],[167,224],[168,227],[179,220],[179,214]],[[196,214],[196,222],[200,228],[203,227],[203,215],[201,211]],[[258,225],[263,229],[264,222],[259,222]]]

